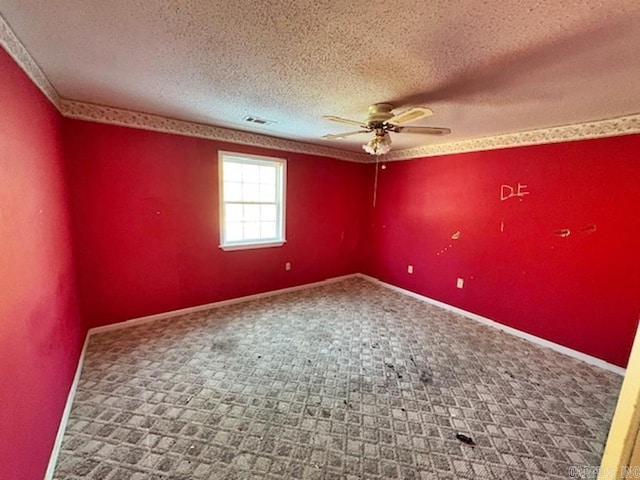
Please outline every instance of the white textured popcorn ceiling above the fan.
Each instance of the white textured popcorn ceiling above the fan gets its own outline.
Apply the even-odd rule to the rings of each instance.
[[[362,151],[322,115],[424,105],[394,149],[640,112],[640,2],[0,0],[66,99]],[[251,115],[275,123],[254,125]]]

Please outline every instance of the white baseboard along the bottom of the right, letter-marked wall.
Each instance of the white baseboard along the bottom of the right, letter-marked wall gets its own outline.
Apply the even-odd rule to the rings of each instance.
[[[422,300],[423,302],[427,302],[427,303],[430,303],[431,305],[435,305],[436,307],[449,310],[450,312],[457,313],[459,315],[462,315],[463,317],[469,318],[471,320],[475,320],[476,322],[480,322],[483,325],[487,325],[489,327],[502,330],[505,333],[509,333],[511,335],[514,335],[519,338],[523,338],[524,340],[528,340],[529,342],[535,343],[537,345],[550,348],[551,350],[555,350],[556,352],[562,353],[564,355],[568,355],[569,357],[582,360],[583,362],[588,363],[590,365],[594,365],[596,367],[602,368],[604,370],[608,370],[613,373],[617,373],[618,375],[622,375],[622,376],[624,376],[624,374],[626,373],[626,369],[619,367],[617,365],[613,365],[612,363],[605,362],[600,358],[592,357],[591,355],[587,355],[586,353],[582,353],[577,350],[573,350],[569,347],[565,347],[564,345],[560,345],[558,343],[545,340],[544,338],[531,335],[530,333],[523,332],[522,330],[517,330],[513,327],[508,327],[494,320],[491,320],[490,318],[486,318],[486,317],[483,317],[482,315],[478,315],[477,313],[468,312],[461,308],[454,307],[452,305],[440,302],[438,300],[434,300],[433,298],[425,297],[424,295],[420,295],[410,290],[405,290],[404,288],[396,287],[395,285],[391,285],[390,283],[383,282],[382,280],[378,280],[377,278],[370,277],[369,275],[359,273],[357,274],[357,276],[360,278],[364,278],[365,280],[368,280],[372,283],[381,285],[390,290],[394,290],[404,295],[408,295],[418,300]]]

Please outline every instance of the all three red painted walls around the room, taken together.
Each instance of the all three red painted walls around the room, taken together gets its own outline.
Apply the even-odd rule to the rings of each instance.
[[[78,297],[98,326],[364,271],[626,364],[640,136],[390,163],[372,207],[372,166],[63,120],[2,50],[0,99],[3,478],[45,472],[86,334]],[[288,159],[284,246],[218,248],[219,149]]]

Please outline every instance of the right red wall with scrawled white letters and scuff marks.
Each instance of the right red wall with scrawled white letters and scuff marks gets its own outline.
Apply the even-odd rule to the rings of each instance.
[[[640,313],[639,151],[633,135],[388,163],[365,271],[625,366]],[[501,200],[518,182],[523,195]]]

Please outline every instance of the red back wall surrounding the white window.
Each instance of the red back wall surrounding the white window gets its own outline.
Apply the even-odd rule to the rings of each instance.
[[[90,326],[361,269],[365,165],[77,120],[65,145]],[[219,149],[288,159],[284,246],[218,248]]]

